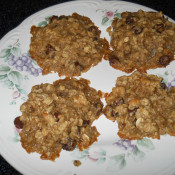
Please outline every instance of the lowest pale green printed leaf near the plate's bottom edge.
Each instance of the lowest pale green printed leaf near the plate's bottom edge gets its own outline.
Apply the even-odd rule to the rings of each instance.
[[[110,157],[107,171],[117,172],[126,166],[125,154]]]

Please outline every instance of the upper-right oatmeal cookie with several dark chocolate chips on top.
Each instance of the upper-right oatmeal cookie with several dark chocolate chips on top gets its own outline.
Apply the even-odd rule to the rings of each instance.
[[[112,51],[109,63],[126,73],[166,67],[175,54],[175,24],[162,12],[123,12],[107,31]],[[112,30],[111,30],[112,29]]]

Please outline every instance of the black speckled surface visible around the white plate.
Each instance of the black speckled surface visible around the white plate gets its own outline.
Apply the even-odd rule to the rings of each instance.
[[[69,0],[0,0],[0,39],[33,13]],[[174,0],[128,0],[148,6],[175,20]],[[2,134],[2,133],[1,133]],[[0,156],[0,175],[20,175]]]

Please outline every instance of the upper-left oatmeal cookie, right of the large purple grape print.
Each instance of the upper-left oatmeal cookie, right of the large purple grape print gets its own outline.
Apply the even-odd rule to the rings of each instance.
[[[32,26],[30,55],[43,69],[60,76],[79,76],[96,66],[109,51],[101,31],[85,16],[52,16],[45,27]]]

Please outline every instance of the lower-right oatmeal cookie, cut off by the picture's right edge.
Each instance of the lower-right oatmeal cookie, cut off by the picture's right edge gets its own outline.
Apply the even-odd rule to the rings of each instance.
[[[175,136],[175,87],[168,89],[156,75],[136,71],[119,77],[106,102],[104,114],[117,121],[121,138]]]

